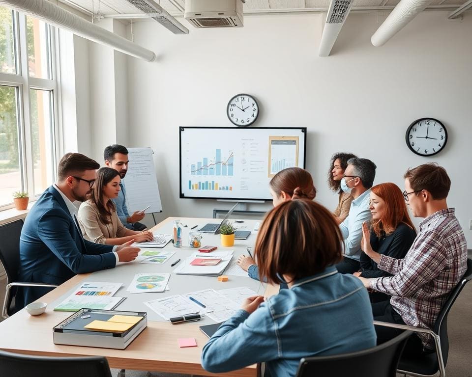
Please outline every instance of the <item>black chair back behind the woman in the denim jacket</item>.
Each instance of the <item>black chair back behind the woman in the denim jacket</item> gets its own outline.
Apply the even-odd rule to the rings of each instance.
[[[367,350],[333,356],[304,357],[296,377],[395,377],[398,360],[413,332],[400,335]]]

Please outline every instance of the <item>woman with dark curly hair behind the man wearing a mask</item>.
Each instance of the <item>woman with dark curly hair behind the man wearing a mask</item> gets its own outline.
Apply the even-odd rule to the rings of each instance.
[[[338,224],[341,224],[349,215],[353,197],[351,194],[341,189],[341,179],[343,179],[344,170],[348,166],[348,160],[356,158],[352,153],[336,153],[331,157],[328,171],[328,185],[331,191],[337,192],[339,196],[338,206],[333,212]]]

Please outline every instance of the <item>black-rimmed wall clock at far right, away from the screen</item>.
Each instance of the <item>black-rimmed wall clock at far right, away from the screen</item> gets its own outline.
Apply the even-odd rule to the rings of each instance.
[[[405,141],[413,153],[420,156],[433,156],[445,147],[447,131],[439,120],[421,118],[408,127]]]

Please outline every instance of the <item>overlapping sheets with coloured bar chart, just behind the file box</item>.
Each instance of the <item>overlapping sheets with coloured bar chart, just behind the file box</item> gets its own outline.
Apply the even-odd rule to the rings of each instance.
[[[86,281],[54,308],[59,312],[76,312],[82,308],[115,309],[125,297],[114,297],[121,283]]]

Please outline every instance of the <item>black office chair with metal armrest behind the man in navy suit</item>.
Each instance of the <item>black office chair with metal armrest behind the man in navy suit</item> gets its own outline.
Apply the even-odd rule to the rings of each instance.
[[[8,284],[5,290],[2,316],[7,318],[18,310],[21,305],[16,304],[16,287],[57,287],[57,285],[44,283],[25,283],[18,281],[20,268],[20,235],[23,220],[16,220],[0,226],[0,264],[6,272]]]

